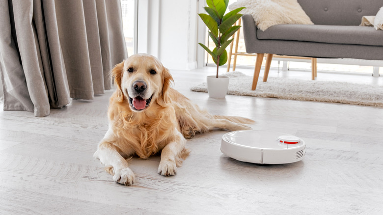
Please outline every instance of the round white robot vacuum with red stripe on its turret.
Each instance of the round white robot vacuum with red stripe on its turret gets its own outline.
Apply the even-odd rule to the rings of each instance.
[[[221,152],[230,158],[260,164],[301,161],[305,147],[297,136],[257,130],[229,132],[221,142]]]

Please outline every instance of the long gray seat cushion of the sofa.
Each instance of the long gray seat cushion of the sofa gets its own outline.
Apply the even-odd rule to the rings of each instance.
[[[383,46],[383,31],[365,26],[276,25],[265,31],[258,29],[257,38]]]

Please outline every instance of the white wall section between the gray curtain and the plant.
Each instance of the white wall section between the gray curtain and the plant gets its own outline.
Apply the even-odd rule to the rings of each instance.
[[[138,0],[137,52],[158,57],[165,67],[197,67],[197,0]]]

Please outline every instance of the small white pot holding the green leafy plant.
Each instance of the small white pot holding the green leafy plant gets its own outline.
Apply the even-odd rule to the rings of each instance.
[[[229,77],[228,76],[208,76],[208,94],[211,98],[225,98],[227,93],[227,88],[229,87]]]

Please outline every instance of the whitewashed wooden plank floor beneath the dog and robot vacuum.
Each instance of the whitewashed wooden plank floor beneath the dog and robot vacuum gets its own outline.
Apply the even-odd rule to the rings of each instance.
[[[0,214],[383,214],[383,108],[191,92],[214,74],[209,70],[172,71],[174,87],[213,114],[248,117],[257,121],[254,129],[303,138],[305,158],[284,165],[236,161],[219,150],[226,131],[215,131],[188,141],[192,153],[175,176],[157,174],[159,157],[133,159],[137,182],[121,186],[92,157],[107,131],[108,91],[44,118],[0,111]],[[383,78],[367,76],[318,79],[383,85]]]

